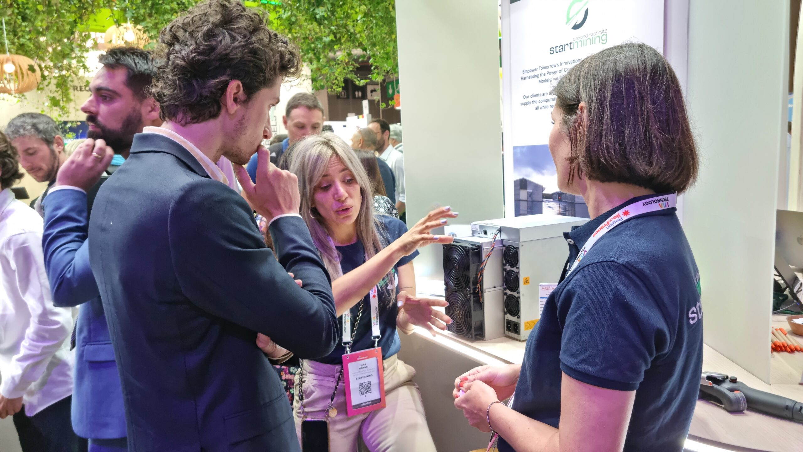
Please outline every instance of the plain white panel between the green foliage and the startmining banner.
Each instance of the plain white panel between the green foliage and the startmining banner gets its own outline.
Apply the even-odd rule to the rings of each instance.
[[[497,2],[397,0],[396,22],[408,225],[435,203],[501,218]],[[440,255],[422,249],[417,275],[442,275]]]

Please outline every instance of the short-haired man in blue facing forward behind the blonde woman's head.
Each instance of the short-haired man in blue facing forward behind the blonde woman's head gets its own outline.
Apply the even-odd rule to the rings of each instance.
[[[287,151],[290,145],[308,135],[317,135],[324,127],[324,107],[318,98],[308,92],[300,92],[287,101],[287,108],[282,118],[284,128],[287,129],[287,138],[271,145],[267,150],[271,152],[271,163],[277,165],[279,157]],[[251,181],[256,181],[256,154],[248,162],[248,175]]]

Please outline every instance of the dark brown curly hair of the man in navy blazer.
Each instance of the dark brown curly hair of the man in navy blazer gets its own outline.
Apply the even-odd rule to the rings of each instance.
[[[220,114],[231,80],[246,96],[301,69],[297,47],[267,27],[263,10],[240,0],[206,0],[173,19],[159,35],[151,94],[161,119],[196,124]]]

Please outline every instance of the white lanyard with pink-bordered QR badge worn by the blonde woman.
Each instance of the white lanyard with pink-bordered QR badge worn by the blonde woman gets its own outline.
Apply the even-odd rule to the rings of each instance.
[[[374,286],[369,293],[373,348],[351,351],[351,312],[343,313],[343,346],[346,349],[346,354],[343,355],[343,374],[348,416],[385,408],[385,372],[382,369],[382,348],[379,347],[382,333],[379,329],[378,294],[378,286]]]

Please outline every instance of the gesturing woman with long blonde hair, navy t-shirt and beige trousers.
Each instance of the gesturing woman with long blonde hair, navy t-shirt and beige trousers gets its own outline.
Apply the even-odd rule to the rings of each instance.
[[[312,441],[316,433],[308,432],[303,421],[317,418],[328,421],[332,452],[353,452],[360,438],[372,452],[434,452],[421,393],[412,382],[415,371],[396,356],[401,346],[397,329],[410,334],[418,326],[434,334],[433,328],[445,330],[451,322],[434,309],[446,306],[445,301],[415,296],[412,260],[421,246],[451,242],[451,237],[432,235],[430,230],[457,214],[449,207],[433,210],[410,230],[396,218],[375,214],[365,168],[334,133],[301,140],[289,169],[299,179],[301,216],[332,276],[337,315],[342,323],[346,314],[351,330],[345,340],[340,333],[341,345],[331,354],[302,363],[294,402],[299,438]],[[374,309],[378,312],[372,315]],[[365,383],[356,383],[361,389],[358,393],[348,373],[342,372],[345,356],[363,352],[375,353],[377,360],[381,356],[377,364],[384,371],[384,408],[355,409],[354,397],[364,389],[378,394],[377,388],[364,388]],[[347,388],[351,389],[349,407]]]

